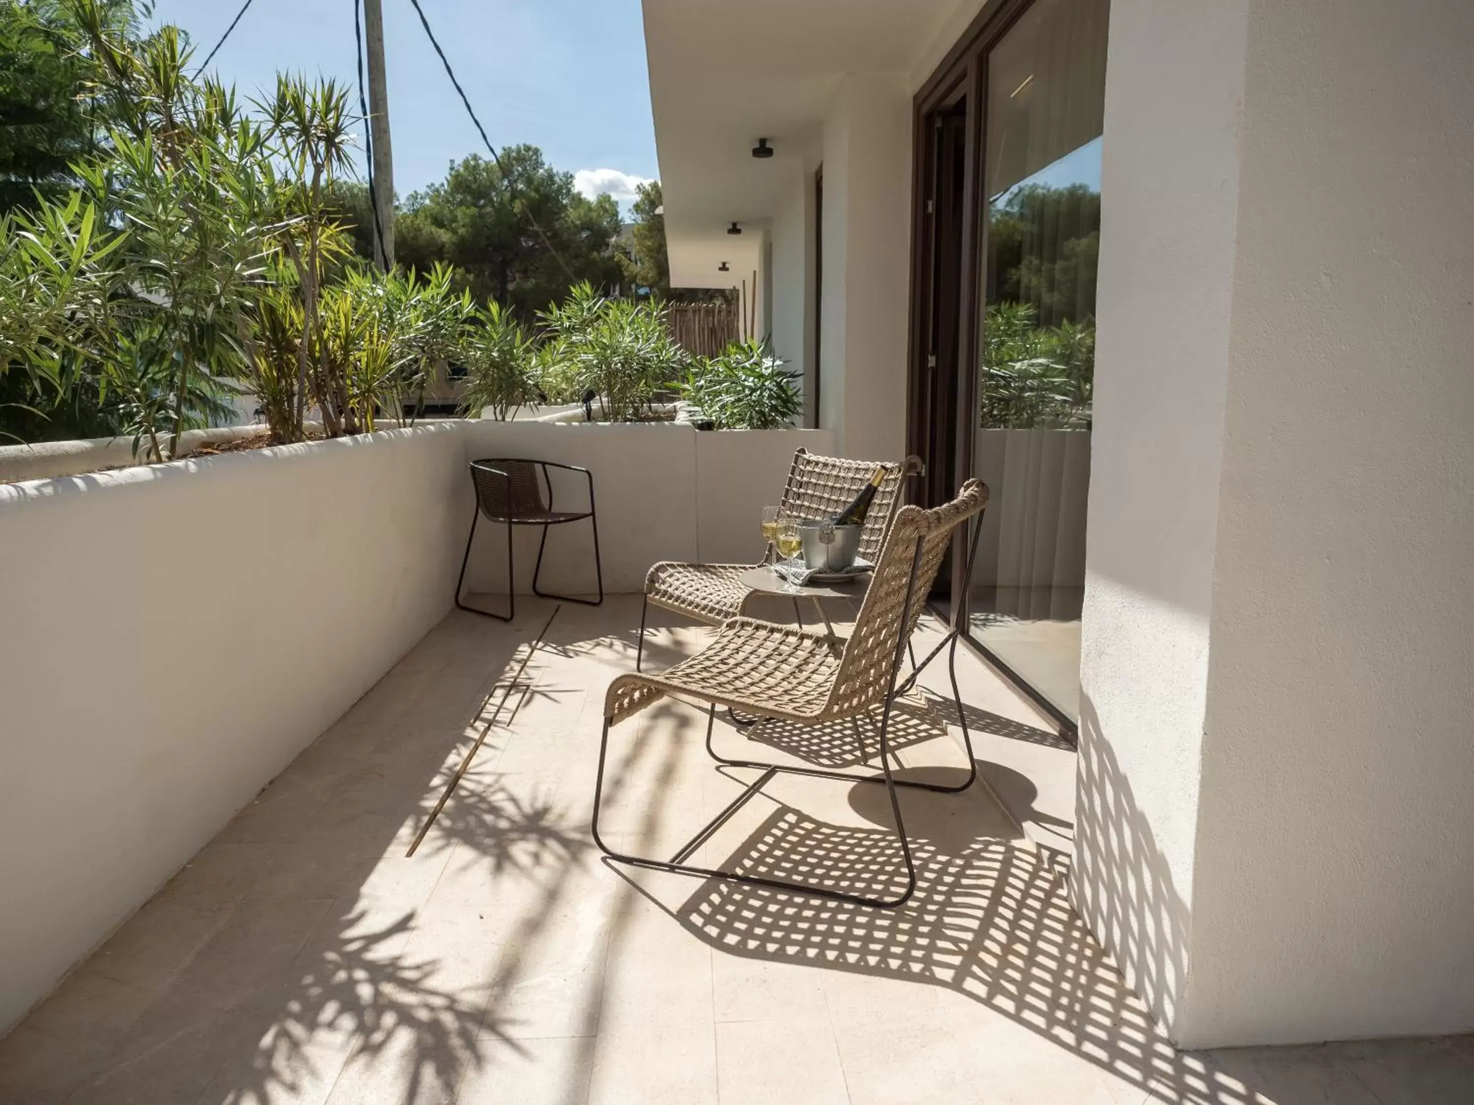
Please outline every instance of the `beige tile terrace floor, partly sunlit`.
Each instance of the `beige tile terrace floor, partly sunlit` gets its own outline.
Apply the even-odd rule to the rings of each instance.
[[[528,603],[510,628],[447,617],[0,1042],[0,1102],[1474,1098],[1467,1039],[1173,1052],[983,787],[904,796],[920,881],[895,912],[603,862],[601,698],[631,663],[638,600],[563,606],[498,713],[551,608]],[[705,632],[660,629],[647,656]],[[964,687],[988,778],[1026,827],[1067,838],[1067,784],[1029,778],[1067,774],[1067,750],[970,660]],[[929,701],[901,719],[901,759],[955,778],[955,731]],[[610,843],[674,852],[740,791],[750,772],[713,771],[702,735],[680,703],[615,729]],[[856,759],[848,734],[761,741]],[[719,750],[743,744],[721,726]],[[697,857],[884,891],[889,825],[877,787],[781,776]]]

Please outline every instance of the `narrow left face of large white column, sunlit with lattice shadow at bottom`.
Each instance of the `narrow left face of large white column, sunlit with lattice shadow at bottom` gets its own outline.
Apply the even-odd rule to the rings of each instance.
[[[1244,0],[1114,0],[1072,891],[1175,1031],[1237,233]]]

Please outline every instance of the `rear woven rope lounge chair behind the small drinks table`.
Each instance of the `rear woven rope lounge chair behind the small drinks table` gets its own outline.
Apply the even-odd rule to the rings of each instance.
[[[778,504],[778,517],[825,519],[839,514],[870,482],[877,467],[886,469],[886,477],[876,489],[876,498],[870,504],[859,535],[859,555],[870,561],[877,560],[886,529],[901,504],[901,483],[904,477],[921,470],[917,457],[907,457],[901,464],[852,461],[842,457],[820,457],[800,448],[793,454],[793,464],[789,467],[789,482]],[[641,670],[644,663],[644,626],[652,603],[706,625],[721,625],[728,617],[747,613],[747,600],[753,591],[738,580],[753,567],[756,564],[687,564],[677,560],[662,560],[654,564],[646,575],[644,604],[640,607],[635,670]],[[794,600],[796,610],[797,600]]]

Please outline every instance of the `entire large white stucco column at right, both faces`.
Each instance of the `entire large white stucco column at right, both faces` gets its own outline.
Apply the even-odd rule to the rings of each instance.
[[[1111,6],[1072,888],[1187,1046],[1474,1027],[1471,50]]]

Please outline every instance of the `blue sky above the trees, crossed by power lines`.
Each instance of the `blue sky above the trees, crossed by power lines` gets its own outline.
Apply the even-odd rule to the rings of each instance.
[[[205,55],[242,0],[155,0],[150,25],[177,24]],[[485,146],[410,0],[382,0],[394,186],[404,197]],[[656,175],[640,0],[420,0],[491,141],[542,147],[585,194],[628,211]],[[211,62],[242,96],[279,69],[354,88],[354,0],[254,0]]]

